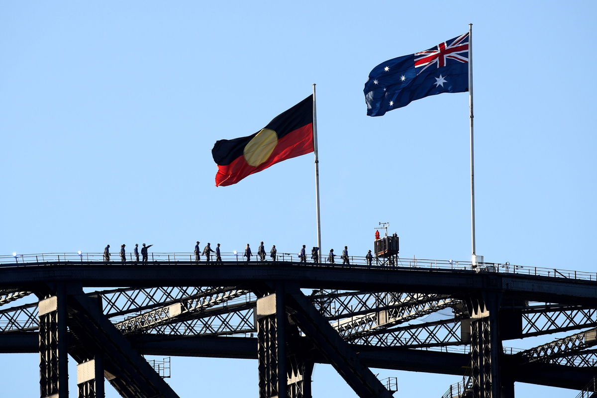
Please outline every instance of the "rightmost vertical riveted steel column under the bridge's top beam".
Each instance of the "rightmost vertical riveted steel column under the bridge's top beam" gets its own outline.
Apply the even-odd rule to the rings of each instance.
[[[500,340],[498,294],[470,298],[470,357],[475,398],[501,398]]]

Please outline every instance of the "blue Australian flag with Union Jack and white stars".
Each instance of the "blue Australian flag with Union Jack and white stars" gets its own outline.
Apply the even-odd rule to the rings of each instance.
[[[365,83],[367,115],[381,116],[411,101],[469,90],[469,33],[420,53],[380,63]]]

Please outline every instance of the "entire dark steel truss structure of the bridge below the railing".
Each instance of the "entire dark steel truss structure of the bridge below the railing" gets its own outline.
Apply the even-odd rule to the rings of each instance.
[[[312,397],[315,363],[359,397],[392,396],[370,367],[458,375],[449,395],[480,398],[513,397],[516,381],[581,390],[597,374],[594,280],[234,261],[3,272],[0,352],[40,353],[42,398],[68,396],[69,356],[81,398],[103,397],[104,380],[122,397],[177,397],[144,354],[256,359],[260,398]]]

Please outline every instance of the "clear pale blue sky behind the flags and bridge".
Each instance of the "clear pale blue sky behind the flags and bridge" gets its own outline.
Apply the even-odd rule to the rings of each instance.
[[[348,245],[364,255],[374,227],[389,221],[401,257],[470,260],[467,94],[370,118],[362,89],[381,61],[473,23],[477,252],[595,271],[596,8],[4,1],[0,254],[143,242],[190,252],[196,240],[223,251],[260,240],[279,251],[315,245],[312,155],[215,187],[211,148],[258,131],[316,83],[324,251]],[[38,394],[36,355],[0,359],[2,394]],[[256,362],[172,361],[168,382],[181,397],[257,394]],[[458,381],[382,375],[398,376],[396,397],[439,397]],[[329,366],[317,365],[313,380],[316,397],[354,396]],[[524,384],[516,394],[576,396]]]

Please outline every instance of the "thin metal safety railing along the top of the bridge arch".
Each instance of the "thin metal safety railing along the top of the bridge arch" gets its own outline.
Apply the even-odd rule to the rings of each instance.
[[[310,257],[307,255],[307,257]],[[302,261],[301,261],[302,260]],[[264,260],[260,259],[259,254],[253,253],[250,257],[245,257],[244,252],[222,252],[221,263],[270,263],[272,261],[283,263],[294,263],[305,266],[328,266],[328,267],[352,267],[352,268],[371,268],[371,269],[429,269],[439,271],[473,271],[478,273],[510,273],[510,274],[525,274],[544,277],[556,277],[565,279],[577,280],[595,280],[597,281],[597,272],[564,270],[547,267],[528,267],[519,266],[510,263],[478,263],[473,265],[470,261],[454,261],[454,260],[426,260],[418,258],[399,258],[392,257],[392,261],[388,258],[373,257],[368,259],[363,256],[349,256],[344,260],[340,255],[336,255],[335,261],[330,261],[328,255],[322,255],[318,261],[311,259],[301,259],[298,254],[290,252],[280,252],[275,255],[275,258],[266,255]],[[27,265],[48,265],[50,263],[134,263],[143,264],[143,257],[139,255],[137,259],[133,252],[127,252],[125,258],[119,256],[119,252],[113,252],[110,257],[106,259],[102,253],[97,252],[76,252],[76,253],[39,253],[39,254],[17,254],[1,255],[0,266],[27,266]],[[151,252],[148,254],[147,263],[149,264],[173,264],[173,263],[207,263],[207,257],[200,255],[198,260],[195,254],[190,252],[174,252],[174,253],[158,253]],[[214,253],[210,256],[211,264],[220,263]]]

